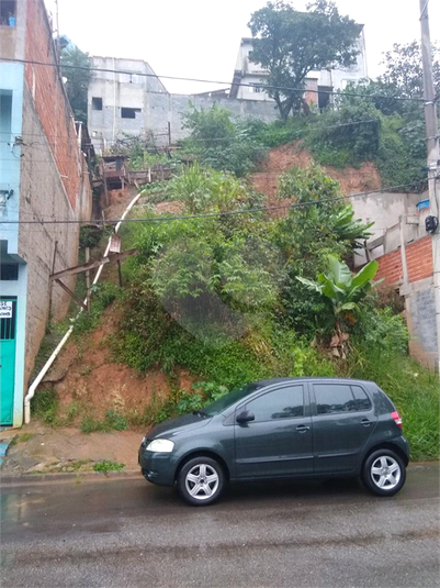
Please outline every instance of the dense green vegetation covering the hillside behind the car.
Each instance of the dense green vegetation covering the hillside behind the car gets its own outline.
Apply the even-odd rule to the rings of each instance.
[[[171,384],[181,368],[199,380],[194,393],[173,385],[170,398],[155,398],[136,423],[194,410],[263,377],[340,375],[375,380],[403,414],[413,458],[438,456],[438,378],[408,357],[402,303],[395,292],[371,288],[374,264],[360,276],[349,271],[370,226],[354,219],[338,184],[317,165],[374,162],[385,186],[422,187],[422,109],[397,99],[419,96],[419,80],[397,66],[390,59],[383,79],[348,87],[331,109],[270,124],[233,120],[217,106],[190,108],[176,174],[146,187],[148,203],[137,211],[145,222],[123,225],[124,248],[139,249],[124,263],[125,288],[101,287],[92,313],[76,325],[93,328],[102,309],[116,303],[117,359],[140,373],[159,368]],[[279,197],[291,208],[275,217],[260,210],[263,198],[246,177],[270,147],[298,140],[316,164],[280,178]],[[131,148],[133,168],[163,163],[148,145]],[[159,200],[176,201],[192,218],[159,218]],[[55,404],[50,398],[40,409],[49,422]],[[108,413],[82,425],[131,422]]]

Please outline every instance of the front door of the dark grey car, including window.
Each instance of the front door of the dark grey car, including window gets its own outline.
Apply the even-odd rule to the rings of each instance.
[[[236,419],[244,410],[255,419],[240,424]],[[242,403],[234,430],[237,478],[312,473],[308,391],[302,384],[279,386]]]

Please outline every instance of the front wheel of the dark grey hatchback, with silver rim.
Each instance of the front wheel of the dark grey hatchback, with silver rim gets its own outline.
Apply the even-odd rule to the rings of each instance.
[[[180,496],[190,504],[203,507],[217,500],[225,485],[222,466],[212,457],[199,456],[187,462],[177,479]]]

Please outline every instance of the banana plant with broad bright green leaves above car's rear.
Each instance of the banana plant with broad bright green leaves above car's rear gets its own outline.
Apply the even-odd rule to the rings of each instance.
[[[328,269],[319,274],[316,281],[296,277],[304,286],[330,300],[335,321],[330,347],[336,356],[347,356],[349,335],[343,332],[342,319],[351,314],[358,308],[359,301],[371,290],[377,268],[379,264],[373,259],[353,276],[347,264],[339,262],[335,255],[329,255]]]

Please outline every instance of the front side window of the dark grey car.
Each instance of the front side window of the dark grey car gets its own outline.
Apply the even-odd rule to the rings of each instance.
[[[304,415],[304,395],[302,386],[278,388],[256,398],[246,404],[253,412],[253,422],[292,419]]]

